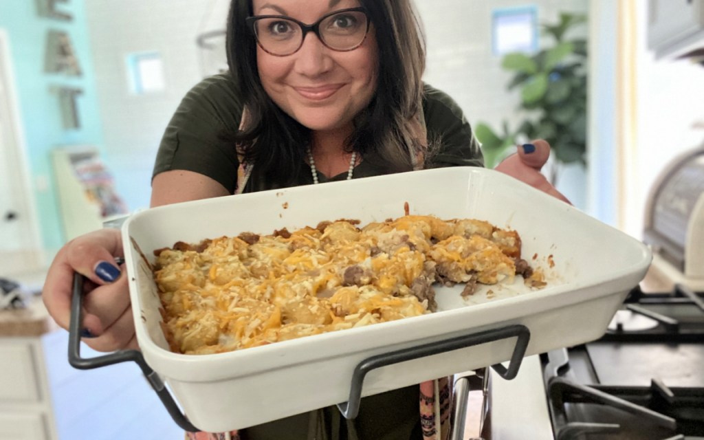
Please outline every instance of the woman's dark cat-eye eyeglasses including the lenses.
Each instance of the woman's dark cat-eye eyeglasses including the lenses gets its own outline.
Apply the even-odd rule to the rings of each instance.
[[[286,15],[256,15],[246,18],[259,46],[274,56],[295,54],[303,46],[308,32],[314,32],[329,49],[357,49],[369,32],[369,19],[364,8],[350,8],[323,15],[306,25]]]

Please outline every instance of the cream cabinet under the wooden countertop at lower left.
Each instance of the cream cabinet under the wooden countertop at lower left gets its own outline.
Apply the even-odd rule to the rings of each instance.
[[[0,338],[0,439],[56,440],[42,342]]]

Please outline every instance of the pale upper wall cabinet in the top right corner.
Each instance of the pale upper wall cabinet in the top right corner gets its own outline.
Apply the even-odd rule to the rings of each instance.
[[[648,47],[658,58],[704,48],[704,0],[649,0]]]

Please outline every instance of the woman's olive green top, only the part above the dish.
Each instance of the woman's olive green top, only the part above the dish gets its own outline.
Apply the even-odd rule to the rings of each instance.
[[[222,134],[237,132],[242,106],[227,73],[208,77],[197,84],[184,97],[166,127],[153,175],[169,170],[199,172],[234,193],[239,161],[234,146]],[[483,166],[482,152],[472,127],[450,96],[426,85],[422,106],[429,142],[436,144],[429,166]],[[301,176],[298,184],[312,184],[308,165],[302,162],[301,167],[306,168],[306,172],[298,173]],[[354,169],[353,178],[382,173],[371,162],[362,161]],[[346,172],[329,179],[318,173],[320,182],[345,180],[346,177]],[[254,172],[244,192],[270,188]]]

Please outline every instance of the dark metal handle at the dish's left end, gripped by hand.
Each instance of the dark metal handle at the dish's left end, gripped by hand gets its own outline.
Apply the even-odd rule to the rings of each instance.
[[[146,365],[142,352],[137,350],[122,350],[115,351],[108,355],[97,356],[95,358],[81,358],[80,355],[80,332],[81,322],[83,322],[83,282],[85,277],[80,273],[73,275],[73,296],[71,297],[71,320],[68,325],[68,363],[79,370],[92,370],[93,368],[105,367],[116,363],[134,361],[142,369],[144,377],[146,377],[151,387],[156,391],[156,394],[161,399],[161,403],[166,407],[166,410],[171,415],[171,418],[176,424],[188,432],[198,432],[200,429],[191,425],[186,416],[177,406],[174,398],[166,388],[154,370]]]

